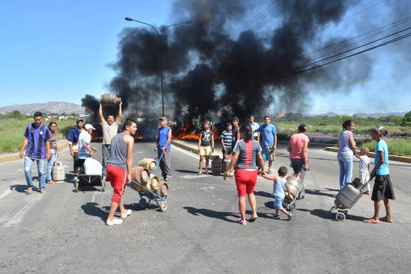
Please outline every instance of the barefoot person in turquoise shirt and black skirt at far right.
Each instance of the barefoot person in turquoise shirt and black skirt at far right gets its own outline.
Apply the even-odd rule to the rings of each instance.
[[[374,201],[374,216],[371,219],[364,220],[365,223],[379,223],[385,221],[393,223],[391,216],[390,201],[395,199],[393,184],[390,180],[390,171],[388,170],[388,146],[386,141],[382,140],[385,134],[385,129],[381,125],[375,125],[371,129],[371,137],[377,141],[375,147],[374,169],[371,171],[371,177],[375,176],[375,183],[371,200]],[[386,208],[386,216],[379,218],[379,208],[381,208],[380,201],[384,200]]]

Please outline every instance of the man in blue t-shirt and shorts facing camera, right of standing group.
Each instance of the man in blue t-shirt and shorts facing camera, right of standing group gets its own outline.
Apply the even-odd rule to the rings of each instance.
[[[269,161],[269,170],[267,171],[269,174],[273,160],[275,160],[275,149],[277,149],[277,129],[270,122],[270,117],[264,116],[264,125],[258,128],[258,132],[262,136],[262,158],[264,161]]]

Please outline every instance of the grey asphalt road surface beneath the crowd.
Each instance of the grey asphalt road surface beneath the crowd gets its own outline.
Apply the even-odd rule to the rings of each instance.
[[[136,143],[135,162],[152,148]],[[260,178],[259,217],[248,225],[236,223],[234,179],[197,175],[197,155],[176,147],[169,208],[160,212],[152,203],[142,210],[138,192],[127,188],[132,214],[110,227],[104,221],[112,188],[73,192],[68,149],[60,158],[66,182],[47,185],[45,195],[25,195],[23,160],[0,163],[0,273],[410,273],[411,165],[390,162],[395,223],[372,225],[362,222],[373,215],[366,195],[345,221],[335,221],[336,153],[310,149],[309,157],[307,196],[292,221],[272,218],[272,183]],[[288,164],[280,147],[274,167]]]

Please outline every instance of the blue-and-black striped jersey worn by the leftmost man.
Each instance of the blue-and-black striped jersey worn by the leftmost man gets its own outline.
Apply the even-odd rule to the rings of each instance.
[[[43,123],[40,127],[36,127],[36,123],[29,124],[26,127],[24,136],[29,140],[25,157],[45,159],[46,141],[51,139],[49,127],[46,127]]]

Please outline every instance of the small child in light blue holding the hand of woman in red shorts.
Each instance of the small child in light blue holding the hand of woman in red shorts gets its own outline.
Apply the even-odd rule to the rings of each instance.
[[[279,220],[279,210],[281,210],[284,214],[288,216],[288,220],[292,219],[292,214],[288,213],[287,210],[285,210],[282,206],[282,202],[284,201],[284,198],[286,197],[284,193],[284,188],[286,188],[287,192],[290,193],[290,190],[288,189],[288,183],[286,181],[286,175],[287,175],[287,168],[285,166],[281,166],[278,169],[278,176],[273,176],[270,177],[268,175],[262,175],[262,177],[266,179],[271,179],[273,180],[273,196],[275,197],[274,201],[274,206],[275,206],[275,215],[273,216],[274,219]]]

